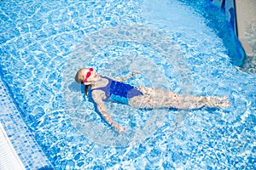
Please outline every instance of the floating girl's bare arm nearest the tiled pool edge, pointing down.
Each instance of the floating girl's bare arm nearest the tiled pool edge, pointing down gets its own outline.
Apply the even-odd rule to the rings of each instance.
[[[104,120],[118,132],[125,132],[125,127],[122,127],[117,122],[113,122],[113,119],[108,114],[107,108],[102,101],[102,93],[100,91],[97,92],[97,90],[94,91],[92,93],[92,99],[96,102],[97,110],[100,112]]]

